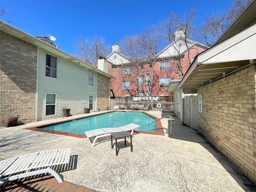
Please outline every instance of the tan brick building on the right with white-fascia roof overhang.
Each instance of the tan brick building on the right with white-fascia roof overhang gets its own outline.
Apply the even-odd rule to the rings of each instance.
[[[174,90],[174,100],[182,98],[181,92],[196,90],[198,131],[254,184],[256,184],[255,10],[256,1],[251,1],[218,38],[214,46],[196,56]],[[172,86],[168,85],[168,87]],[[174,108],[177,108],[177,105],[174,104]],[[186,106],[182,108],[184,114],[189,110]]]

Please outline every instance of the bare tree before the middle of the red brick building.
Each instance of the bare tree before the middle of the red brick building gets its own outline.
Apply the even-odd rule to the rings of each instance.
[[[155,86],[152,72],[157,60],[158,44],[159,37],[149,27],[140,34],[121,40],[122,52],[132,60],[132,63],[122,65],[123,74],[127,73],[123,81],[130,81],[134,85],[127,90],[130,95],[138,95],[139,92],[152,94]]]

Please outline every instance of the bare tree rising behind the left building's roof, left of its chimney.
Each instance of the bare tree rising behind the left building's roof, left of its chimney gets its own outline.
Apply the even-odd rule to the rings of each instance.
[[[77,39],[75,48],[76,57],[96,67],[98,58],[100,56],[105,58],[111,52],[110,46],[105,44],[105,39],[98,35],[91,40],[87,37]]]

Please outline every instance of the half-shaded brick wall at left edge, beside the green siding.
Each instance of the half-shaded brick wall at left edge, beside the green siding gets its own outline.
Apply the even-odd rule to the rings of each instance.
[[[0,118],[14,114],[18,121],[34,122],[37,47],[4,32],[0,44]]]

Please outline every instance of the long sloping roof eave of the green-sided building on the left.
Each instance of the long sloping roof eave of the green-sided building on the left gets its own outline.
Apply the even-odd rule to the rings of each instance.
[[[47,42],[45,42],[44,40],[41,40],[35,36],[32,36],[2,20],[0,20],[1,24],[0,24],[0,30],[10,34],[12,36],[15,36],[16,38],[19,38],[21,40],[24,40],[26,42],[29,42],[30,44],[33,44],[35,46],[38,46],[39,48],[42,48],[43,50],[54,54],[55,56],[59,56],[61,58],[64,58],[65,60],[77,65],[78,63],[80,63],[80,66],[83,66],[84,68],[87,68],[91,71],[94,72],[98,72],[104,76],[107,76],[108,78],[113,78],[113,76],[109,75],[106,72],[103,72],[102,70],[99,70],[98,68],[84,62],[83,60],[80,60],[66,52],[64,52],[63,50],[60,50],[59,48],[56,48],[55,46],[48,44]]]

